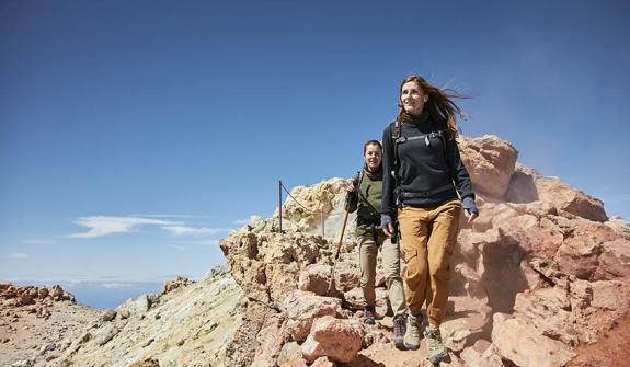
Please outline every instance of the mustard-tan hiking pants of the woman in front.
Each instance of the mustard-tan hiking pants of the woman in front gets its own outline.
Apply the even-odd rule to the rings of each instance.
[[[442,323],[448,300],[450,255],[457,243],[461,204],[455,199],[433,208],[398,210],[406,269],[404,293],[409,311],[419,316],[426,300],[428,322]]]

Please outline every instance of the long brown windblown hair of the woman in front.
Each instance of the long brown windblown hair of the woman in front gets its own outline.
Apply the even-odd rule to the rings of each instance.
[[[424,104],[425,108],[428,108],[428,113],[431,114],[431,118],[435,121],[437,124],[442,125],[442,128],[448,130],[448,133],[456,138],[458,136],[458,126],[457,126],[457,115],[459,117],[463,117],[463,112],[461,108],[453,102],[454,99],[466,99],[466,95],[458,93],[453,89],[439,89],[437,87],[433,87],[429,84],[424,78],[420,76],[410,76],[406,77],[401,83],[400,88],[398,89],[399,94],[399,112],[398,112],[398,121],[402,121],[402,113],[404,112],[402,107],[402,103],[400,101],[400,95],[402,93],[402,87],[411,81],[414,81],[420,85],[424,94],[428,96],[428,101]]]

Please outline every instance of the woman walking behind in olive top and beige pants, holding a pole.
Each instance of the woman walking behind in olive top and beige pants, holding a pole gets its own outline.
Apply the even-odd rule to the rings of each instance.
[[[359,242],[360,288],[366,308],[364,322],[375,323],[376,257],[380,249],[382,268],[393,309],[393,344],[402,348],[404,336],[405,301],[400,277],[400,249],[380,230],[380,203],[382,190],[382,147],[369,140],[363,147],[365,165],[347,186],[348,213],[357,210],[356,236]]]

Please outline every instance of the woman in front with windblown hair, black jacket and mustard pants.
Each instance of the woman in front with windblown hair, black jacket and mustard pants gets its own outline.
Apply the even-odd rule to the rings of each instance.
[[[427,358],[437,364],[447,352],[439,325],[448,300],[450,254],[457,242],[459,215],[469,222],[479,215],[470,176],[457,147],[453,102],[458,94],[431,85],[419,76],[400,84],[399,114],[383,131],[381,228],[398,231],[406,268],[403,274],[408,323],[404,346],[420,347],[422,306],[426,301]]]

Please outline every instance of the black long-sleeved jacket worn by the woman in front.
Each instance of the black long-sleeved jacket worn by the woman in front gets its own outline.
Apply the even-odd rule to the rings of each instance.
[[[391,175],[394,170],[393,149],[396,144],[391,139],[392,124],[386,127],[382,133],[383,148],[383,181],[382,181],[382,204],[381,213],[393,216],[396,214],[394,188],[396,180]],[[438,125],[431,118],[421,124],[404,122],[400,124],[401,136],[415,137],[423,136],[439,130]],[[465,198],[474,193],[470,183],[470,176],[466,167],[461,162],[457,141],[447,131],[444,131],[444,141],[439,136],[426,140],[408,140],[398,145],[398,170],[396,175],[400,181],[400,188],[404,193],[428,193],[455,183],[450,190],[445,190],[427,197],[404,198],[403,205],[413,207],[435,207],[453,199],[456,199],[457,191],[459,196]]]

